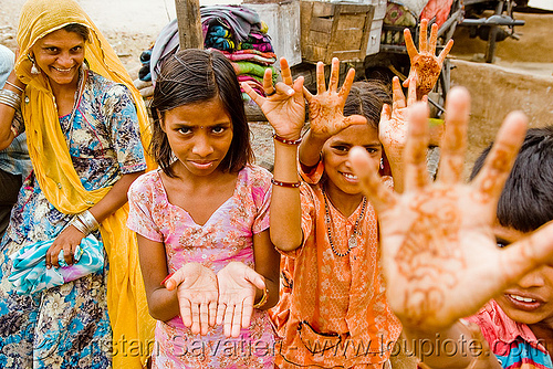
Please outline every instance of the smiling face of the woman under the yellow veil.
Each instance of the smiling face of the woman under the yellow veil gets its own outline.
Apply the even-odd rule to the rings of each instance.
[[[84,44],[80,34],[61,29],[36,41],[31,52],[52,85],[76,86],[79,68],[84,62]]]

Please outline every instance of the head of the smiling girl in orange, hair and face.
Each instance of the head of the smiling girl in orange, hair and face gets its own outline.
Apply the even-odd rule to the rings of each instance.
[[[376,81],[355,82],[344,105],[344,116],[362,115],[366,125],[349,126],[332,136],[323,146],[324,171],[327,187],[348,194],[361,193],[357,177],[349,166],[348,152],[354,146],[365,147],[379,161],[383,155],[378,139],[378,123],[384,104],[390,104],[386,85]]]

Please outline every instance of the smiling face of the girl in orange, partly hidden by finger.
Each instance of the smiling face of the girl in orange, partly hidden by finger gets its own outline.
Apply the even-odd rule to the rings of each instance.
[[[379,161],[382,145],[378,140],[378,130],[368,124],[354,125],[332,136],[323,147],[324,171],[327,176],[327,191],[345,194],[361,193],[359,181],[354,175],[348,160],[348,152],[354,146],[364,147],[371,158]]]

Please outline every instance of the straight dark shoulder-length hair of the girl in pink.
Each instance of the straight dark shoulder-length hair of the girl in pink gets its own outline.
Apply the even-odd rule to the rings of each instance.
[[[222,106],[232,125],[232,141],[219,169],[234,172],[251,161],[250,130],[232,64],[220,52],[189,49],[177,52],[161,65],[150,107],[154,117],[150,151],[168,176],[174,176],[170,165],[177,148],[170,147],[164,131],[167,113],[185,105],[202,110],[207,107],[204,103],[213,101]]]

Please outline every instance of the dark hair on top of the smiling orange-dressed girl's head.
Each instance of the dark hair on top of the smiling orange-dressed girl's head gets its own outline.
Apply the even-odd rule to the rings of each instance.
[[[384,104],[392,104],[389,88],[379,81],[358,81],[352,85],[344,105],[344,116],[363,115],[367,123],[378,128]]]

